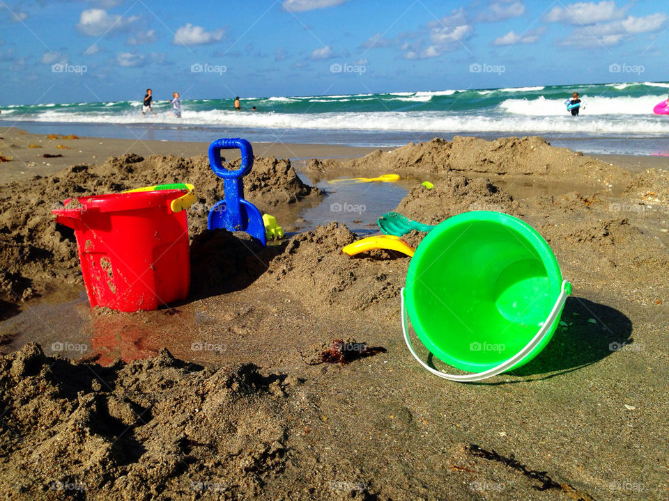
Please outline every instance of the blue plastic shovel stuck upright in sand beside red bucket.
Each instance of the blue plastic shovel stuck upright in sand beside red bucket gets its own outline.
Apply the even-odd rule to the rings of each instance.
[[[242,165],[237,170],[227,170],[221,161],[221,150],[239,148]],[[209,164],[215,175],[223,178],[225,199],[217,202],[209,211],[207,227],[210,230],[225,228],[231,232],[243,231],[257,239],[263,246],[267,244],[265,224],[258,208],[244,200],[242,177],[253,167],[253,148],[248,141],[240,138],[218,139],[209,145]]]

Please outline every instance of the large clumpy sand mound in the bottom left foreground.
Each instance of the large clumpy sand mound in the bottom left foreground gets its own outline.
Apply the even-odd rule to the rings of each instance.
[[[49,491],[100,500],[205,491],[253,498],[284,463],[283,379],[250,364],[202,369],[167,350],[100,367],[26,344],[0,356],[10,427],[0,435],[8,456],[0,490],[23,499]]]

